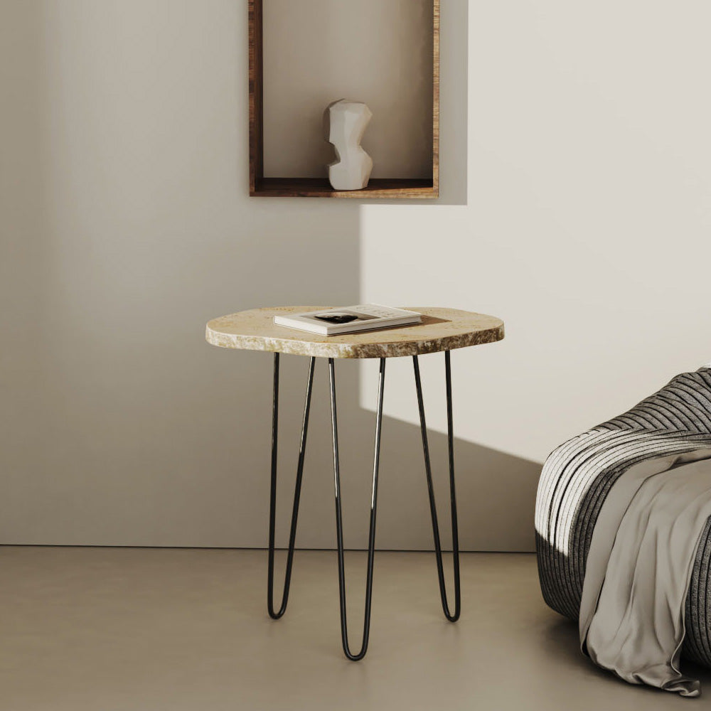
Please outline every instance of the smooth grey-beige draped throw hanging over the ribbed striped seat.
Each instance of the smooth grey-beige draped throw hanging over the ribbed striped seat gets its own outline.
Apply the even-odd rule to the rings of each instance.
[[[710,459],[711,449],[661,456],[616,481],[592,536],[580,605],[580,642],[594,663],[682,696],[700,695],[679,661],[697,543],[711,515]]]

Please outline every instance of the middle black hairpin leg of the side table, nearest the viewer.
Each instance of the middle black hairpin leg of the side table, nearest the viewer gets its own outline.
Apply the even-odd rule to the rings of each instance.
[[[365,616],[363,642],[360,651],[353,654],[348,646],[348,622],[346,621],[346,576],[343,570],[343,516],[341,514],[341,472],[338,467],[338,422],[336,419],[336,369],[333,358],[328,358],[328,373],[331,380],[331,424],[333,427],[333,481],[336,491],[336,542],[338,544],[338,591],[341,597],[341,640],[343,652],[348,659],[363,659],[368,650],[370,634],[370,600],[373,593],[373,553],[375,552],[375,510],[378,505],[378,465],[380,463],[380,430],[383,424],[383,392],[385,388],[385,358],[380,358],[378,379],[378,415],[375,419],[375,454],[373,456],[373,490],[370,495],[370,532],[368,533],[368,577],[365,581]]]

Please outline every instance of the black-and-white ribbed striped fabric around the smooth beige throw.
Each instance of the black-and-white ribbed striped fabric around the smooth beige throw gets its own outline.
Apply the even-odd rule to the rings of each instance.
[[[681,373],[624,415],[570,439],[543,466],[536,498],[545,602],[577,620],[592,533],[611,486],[631,466],[711,446],[711,368]],[[707,610],[709,611],[707,613]],[[685,603],[683,654],[711,667],[711,518]]]

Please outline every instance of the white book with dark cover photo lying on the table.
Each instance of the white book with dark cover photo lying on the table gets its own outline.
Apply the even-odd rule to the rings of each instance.
[[[301,314],[274,316],[277,326],[296,328],[298,331],[318,333],[319,336],[337,336],[339,333],[375,331],[377,328],[392,328],[419,324],[422,314],[417,311],[394,309],[380,304],[358,304],[341,309],[319,309]]]

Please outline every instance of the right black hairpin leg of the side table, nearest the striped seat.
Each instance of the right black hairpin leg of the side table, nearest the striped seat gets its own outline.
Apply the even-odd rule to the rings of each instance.
[[[454,491],[454,435],[451,418],[451,365],[449,351],[444,351],[444,378],[447,386],[447,444],[449,449],[449,497],[451,501],[451,545],[454,559],[454,614],[447,604],[447,589],[444,586],[444,569],[442,567],[442,545],[439,542],[439,524],[437,523],[437,504],[434,502],[432,486],[432,466],[429,462],[429,445],[427,444],[427,424],[424,421],[424,402],[422,401],[422,382],[419,379],[419,362],[417,355],[412,357],[415,364],[415,386],[417,387],[417,406],[419,407],[419,426],[422,430],[422,451],[424,451],[424,471],[427,474],[427,492],[429,493],[429,512],[432,514],[432,535],[434,536],[434,553],[437,556],[437,577],[439,578],[439,597],[442,598],[444,616],[450,622],[459,619],[461,611],[461,594],[459,590],[459,533],[456,524],[456,493]]]

